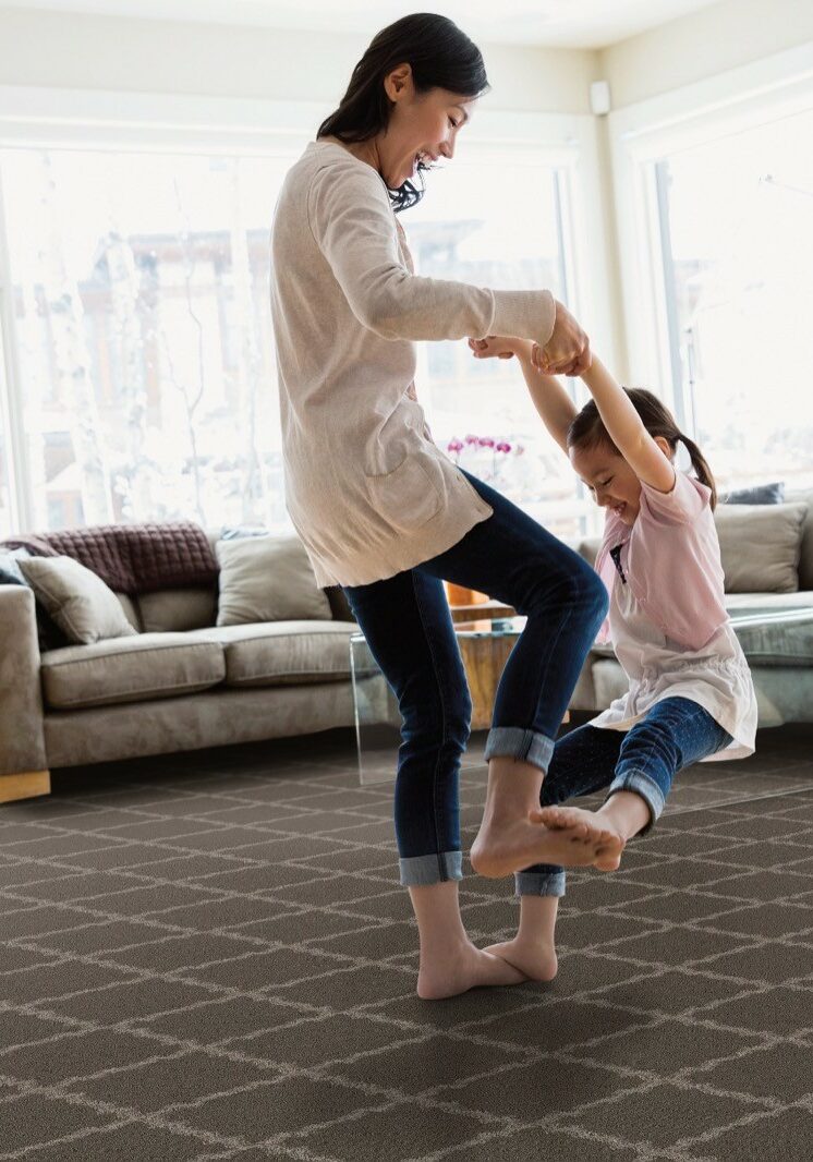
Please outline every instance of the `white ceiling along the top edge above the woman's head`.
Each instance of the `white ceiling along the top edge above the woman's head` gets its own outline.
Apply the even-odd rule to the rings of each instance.
[[[409,12],[437,10],[474,40],[598,49],[667,23],[717,0],[16,0],[15,8],[197,23],[337,30],[372,37]]]

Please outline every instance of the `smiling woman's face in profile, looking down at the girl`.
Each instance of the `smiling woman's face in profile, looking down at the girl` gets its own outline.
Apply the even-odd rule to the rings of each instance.
[[[413,180],[418,162],[454,157],[458,134],[470,120],[476,98],[445,88],[416,93],[412,70],[401,65],[384,79],[394,102],[386,132],[376,138],[379,172],[390,189]]]

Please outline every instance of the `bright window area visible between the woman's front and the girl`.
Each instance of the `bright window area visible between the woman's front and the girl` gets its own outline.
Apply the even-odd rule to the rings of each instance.
[[[495,289],[547,287],[568,299],[566,165],[521,146],[481,157],[473,150],[425,181],[426,195],[402,216],[417,273]],[[461,466],[557,536],[584,531],[590,502],[516,360],[475,360],[465,339],[422,344],[417,392],[436,443]]]

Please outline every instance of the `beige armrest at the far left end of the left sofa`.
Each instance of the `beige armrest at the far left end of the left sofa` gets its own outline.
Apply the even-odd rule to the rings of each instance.
[[[0,584],[0,776],[46,767],[34,594]]]

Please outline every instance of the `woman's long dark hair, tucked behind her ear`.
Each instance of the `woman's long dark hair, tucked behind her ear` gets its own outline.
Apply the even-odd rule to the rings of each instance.
[[[418,93],[446,88],[473,100],[489,87],[477,45],[446,16],[415,13],[396,20],[373,40],[353,70],[338,109],[319,125],[317,138],[365,142],[386,130],[393,102],[384,92],[384,78],[403,64],[412,66]],[[396,214],[420,201],[425,192],[423,171],[427,168],[423,162],[418,163],[420,189],[411,181],[390,189]]]

